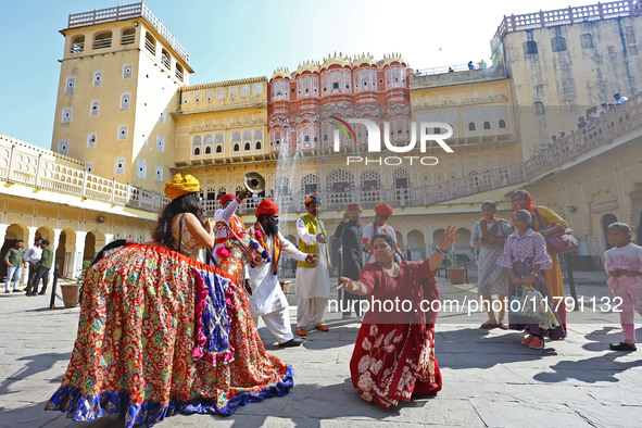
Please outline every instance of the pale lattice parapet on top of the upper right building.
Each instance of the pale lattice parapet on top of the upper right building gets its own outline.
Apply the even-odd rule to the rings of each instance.
[[[508,33],[532,28],[554,27],[556,25],[577,24],[591,21],[610,20],[620,16],[638,15],[642,13],[640,0],[609,1],[607,3],[568,7],[552,11],[539,11],[523,15],[505,16],[492,39],[494,47]]]

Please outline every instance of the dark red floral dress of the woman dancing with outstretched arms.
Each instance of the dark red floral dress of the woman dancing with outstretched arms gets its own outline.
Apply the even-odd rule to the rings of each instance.
[[[430,303],[439,301],[439,291],[428,261],[403,262],[396,278],[376,263],[367,264],[358,281],[366,287],[364,299],[372,307],[350,361],[354,388],[364,400],[383,407],[410,401],[412,395],[437,393],[441,373],[435,357],[436,313]],[[394,303],[395,299],[400,303],[387,310],[390,306],[383,302]],[[410,303],[404,305],[403,301]]]

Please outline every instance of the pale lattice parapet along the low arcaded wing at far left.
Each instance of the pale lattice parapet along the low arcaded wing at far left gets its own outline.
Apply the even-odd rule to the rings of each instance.
[[[163,194],[85,172],[83,162],[0,135],[0,180],[160,212]]]

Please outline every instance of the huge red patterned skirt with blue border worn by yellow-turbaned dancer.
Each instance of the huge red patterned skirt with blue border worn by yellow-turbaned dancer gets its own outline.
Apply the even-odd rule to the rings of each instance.
[[[126,426],[176,413],[232,414],[285,395],[291,366],[265,352],[230,276],[177,252],[127,243],[88,272],[78,336],[47,410]]]

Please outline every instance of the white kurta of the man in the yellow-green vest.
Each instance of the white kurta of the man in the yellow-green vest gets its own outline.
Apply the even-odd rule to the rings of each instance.
[[[319,228],[320,229],[320,228]],[[317,243],[316,235],[307,231],[305,223],[301,218],[297,221],[297,234],[309,246]],[[297,297],[299,299],[330,297],[330,273],[328,272],[328,249],[325,243],[318,242],[316,267],[297,267]]]

